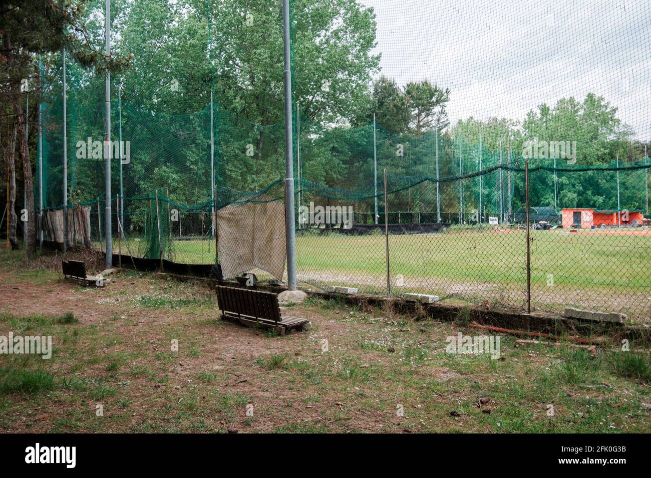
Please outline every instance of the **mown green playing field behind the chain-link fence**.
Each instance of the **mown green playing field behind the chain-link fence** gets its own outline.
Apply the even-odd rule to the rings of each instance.
[[[651,231],[635,232],[639,235],[533,231],[534,309],[556,313],[564,306],[582,306],[628,313],[633,320],[651,317]],[[443,300],[487,300],[519,309],[525,304],[522,230],[452,228],[437,234],[391,235],[389,256],[391,287],[398,295],[418,291]],[[296,257],[300,282],[316,287],[345,284],[363,293],[386,293],[381,234],[299,234]],[[212,263],[214,243],[176,240],[174,260]]]

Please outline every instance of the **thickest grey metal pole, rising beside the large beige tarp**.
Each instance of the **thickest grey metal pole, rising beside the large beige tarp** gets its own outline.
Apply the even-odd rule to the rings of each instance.
[[[283,0],[283,57],[285,107],[285,245],[287,249],[287,287],[296,290],[296,231],[294,230],[294,141],[292,139],[292,64],[289,25],[289,0]]]

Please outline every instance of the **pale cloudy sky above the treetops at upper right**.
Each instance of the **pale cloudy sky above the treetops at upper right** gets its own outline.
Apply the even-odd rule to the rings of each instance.
[[[448,86],[452,124],[522,120],[541,103],[594,92],[651,139],[649,0],[361,2],[376,11],[382,73]]]

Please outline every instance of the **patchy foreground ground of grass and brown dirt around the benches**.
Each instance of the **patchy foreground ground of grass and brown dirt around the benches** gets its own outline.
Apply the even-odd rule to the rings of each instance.
[[[641,344],[503,336],[499,360],[450,354],[448,336],[477,334],[464,315],[315,298],[288,310],[312,330],[277,336],[221,321],[204,284],[123,270],[89,289],[64,282],[58,259],[35,269],[0,250],[0,336],[53,345],[49,360],[0,355],[5,432],[651,431]]]

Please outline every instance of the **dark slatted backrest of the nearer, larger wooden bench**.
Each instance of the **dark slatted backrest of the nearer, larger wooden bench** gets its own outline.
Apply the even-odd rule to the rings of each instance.
[[[217,285],[217,304],[222,312],[268,319],[275,323],[281,320],[278,296],[272,292]]]

